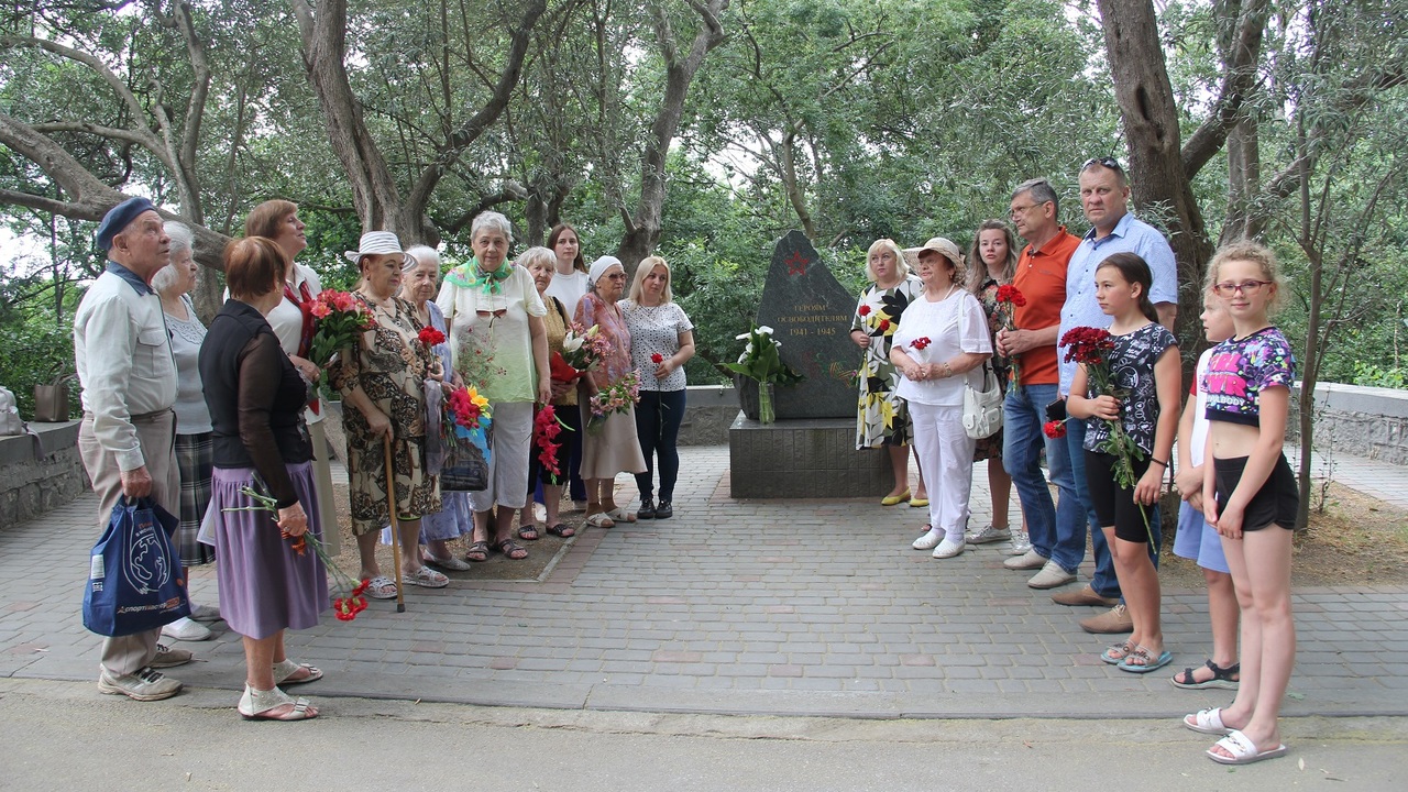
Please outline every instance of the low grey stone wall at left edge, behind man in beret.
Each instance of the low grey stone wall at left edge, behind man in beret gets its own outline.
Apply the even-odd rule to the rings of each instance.
[[[39,434],[0,437],[0,530],[63,506],[92,485],[79,458],[79,421],[31,423]]]

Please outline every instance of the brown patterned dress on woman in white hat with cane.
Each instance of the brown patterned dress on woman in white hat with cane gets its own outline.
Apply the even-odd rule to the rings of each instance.
[[[351,354],[328,366],[328,382],[342,392],[342,428],[348,438],[348,482],[352,533],[362,536],[390,523],[386,493],[386,451],[362,410],[346,395],[362,386],[367,399],[391,421],[391,468],[397,516],[417,519],[441,510],[439,481],[425,475],[425,397],[421,393],[431,357],[417,340],[421,321],[400,297],[387,307],[352,296],[376,318]]]

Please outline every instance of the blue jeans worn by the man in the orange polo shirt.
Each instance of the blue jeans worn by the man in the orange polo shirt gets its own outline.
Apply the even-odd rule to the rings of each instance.
[[[1084,507],[1076,495],[1076,481],[1066,441],[1049,440],[1042,433],[1046,404],[1056,400],[1056,385],[1011,388],[1002,404],[1002,466],[1012,476],[1017,497],[1032,548],[1067,571],[1080,567],[1086,557]],[[1060,499],[1052,505],[1050,490],[1042,476],[1041,452],[1046,448],[1046,466]]]

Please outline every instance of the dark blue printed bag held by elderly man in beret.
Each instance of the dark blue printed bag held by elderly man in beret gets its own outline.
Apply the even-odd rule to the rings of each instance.
[[[117,500],[93,545],[83,589],[83,626],[100,636],[131,636],[190,616],[179,521],[149,497]]]

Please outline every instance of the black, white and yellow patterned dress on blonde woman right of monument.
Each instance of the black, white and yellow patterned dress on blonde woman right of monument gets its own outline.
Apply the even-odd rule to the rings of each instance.
[[[904,399],[894,395],[900,371],[890,362],[890,347],[900,316],[922,290],[924,285],[911,275],[893,289],[870,285],[856,302],[850,330],[870,337],[860,358],[856,448],[910,444],[910,410]]]

